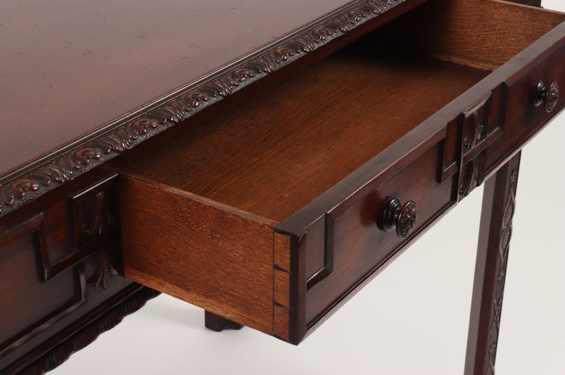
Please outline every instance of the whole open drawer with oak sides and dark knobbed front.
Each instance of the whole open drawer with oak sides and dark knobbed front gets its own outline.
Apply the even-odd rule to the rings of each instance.
[[[299,343],[563,108],[563,21],[429,0],[250,86],[120,173],[125,276]]]

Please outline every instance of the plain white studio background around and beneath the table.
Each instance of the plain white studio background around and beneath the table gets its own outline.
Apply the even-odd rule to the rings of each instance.
[[[564,139],[561,114],[522,152],[497,375],[565,374]],[[162,294],[51,373],[462,374],[482,190],[299,346],[212,332],[202,309]]]

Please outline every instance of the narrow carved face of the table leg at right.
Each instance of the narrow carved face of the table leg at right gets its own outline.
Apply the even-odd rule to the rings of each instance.
[[[493,316],[490,322],[489,351],[486,359],[486,375],[494,375],[494,362],[498,343],[498,332],[500,330],[500,318],[502,313],[502,298],[504,296],[504,284],[506,279],[506,266],[510,249],[510,238],[512,237],[512,218],[516,209],[516,188],[518,186],[518,170],[520,167],[520,156],[514,157],[510,162],[510,173],[508,177],[508,189],[506,195],[506,206],[502,217],[498,242],[497,276],[494,286]]]

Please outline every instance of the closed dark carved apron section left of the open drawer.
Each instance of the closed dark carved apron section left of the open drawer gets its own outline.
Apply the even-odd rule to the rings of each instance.
[[[53,369],[157,295],[117,274],[115,182],[93,171],[0,219],[0,374]]]

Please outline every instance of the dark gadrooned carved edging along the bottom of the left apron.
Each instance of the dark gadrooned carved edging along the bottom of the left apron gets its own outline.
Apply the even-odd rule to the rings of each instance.
[[[73,334],[66,341],[63,341],[55,348],[51,349],[40,359],[23,369],[20,375],[43,375],[48,371],[58,367],[66,361],[74,352],[85,348],[92,343],[101,333],[106,332],[118,325],[125,316],[136,312],[149,299],[157,297],[160,293],[147,287],[138,290],[118,306],[108,310],[104,315]]]

